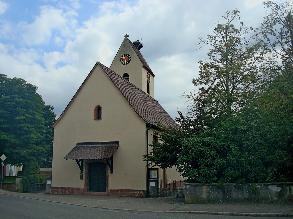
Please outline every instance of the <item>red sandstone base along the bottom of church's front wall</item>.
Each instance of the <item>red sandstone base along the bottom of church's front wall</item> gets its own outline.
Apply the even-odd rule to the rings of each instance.
[[[143,197],[145,190],[130,190],[130,189],[109,189],[109,192],[86,192],[84,188],[73,187],[51,187],[50,194],[84,194],[84,195],[109,195],[109,196],[130,196],[130,197]]]

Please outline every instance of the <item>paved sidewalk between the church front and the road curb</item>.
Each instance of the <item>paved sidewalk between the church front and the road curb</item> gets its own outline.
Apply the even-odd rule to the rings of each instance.
[[[134,198],[89,195],[50,195],[44,193],[18,193],[0,190],[0,194],[25,198],[81,205],[94,208],[107,208],[127,211],[202,213],[217,215],[278,216],[293,217],[292,204],[184,204],[177,198]]]

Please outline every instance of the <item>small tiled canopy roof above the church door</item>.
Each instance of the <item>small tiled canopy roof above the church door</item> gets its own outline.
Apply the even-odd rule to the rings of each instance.
[[[117,150],[119,141],[115,142],[81,142],[64,157],[64,159],[108,159]]]

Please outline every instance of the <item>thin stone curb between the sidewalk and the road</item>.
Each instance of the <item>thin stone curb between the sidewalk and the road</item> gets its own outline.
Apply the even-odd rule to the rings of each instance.
[[[60,204],[69,204],[69,205],[91,207],[91,208],[101,208],[101,209],[107,209],[107,210],[157,212],[157,213],[210,214],[210,215],[251,216],[251,217],[293,217],[293,213],[244,213],[244,212],[239,213],[239,212],[218,212],[218,211],[149,211],[149,210],[134,210],[134,209],[128,209],[128,208],[107,208],[107,207],[99,207],[99,206],[74,204],[74,203],[62,202],[62,201],[51,201],[51,200],[46,200],[46,199],[25,197],[25,196],[21,196],[21,195],[5,194],[5,193],[1,193],[1,192],[0,192],[0,194],[21,197],[21,198],[27,198],[27,199],[35,199],[35,200],[40,200],[40,201],[55,202],[55,203],[60,203]]]

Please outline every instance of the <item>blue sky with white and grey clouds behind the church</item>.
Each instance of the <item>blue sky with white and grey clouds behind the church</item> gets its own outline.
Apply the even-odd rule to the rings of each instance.
[[[198,35],[235,8],[252,27],[265,16],[260,0],[0,0],[0,73],[37,86],[59,116],[97,61],[110,67],[127,33],[144,45],[155,99],[175,118],[207,57]]]

